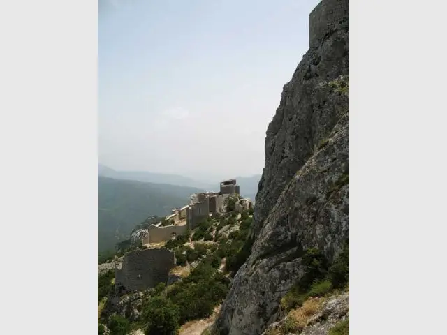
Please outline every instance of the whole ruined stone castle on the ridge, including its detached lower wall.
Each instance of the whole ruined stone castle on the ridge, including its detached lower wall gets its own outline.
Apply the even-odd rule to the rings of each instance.
[[[219,192],[193,194],[189,204],[173,209],[162,221],[150,225],[142,235],[142,246],[147,248],[128,253],[122,262],[115,264],[115,289],[147,290],[158,283],[167,283],[169,271],[175,267],[175,252],[150,244],[175,239],[196,228],[203,219],[226,212],[226,200],[239,195],[239,191],[235,179],[222,181]],[[238,199],[235,211],[248,210],[252,205],[249,199]]]

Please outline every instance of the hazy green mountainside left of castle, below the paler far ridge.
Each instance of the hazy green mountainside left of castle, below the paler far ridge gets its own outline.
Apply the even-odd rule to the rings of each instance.
[[[192,193],[203,191],[98,176],[98,251],[112,249],[127,239],[135,225],[148,216],[170,214],[173,207],[187,204]]]

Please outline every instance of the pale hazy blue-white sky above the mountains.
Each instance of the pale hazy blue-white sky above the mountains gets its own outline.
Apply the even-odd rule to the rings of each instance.
[[[261,174],[265,131],[318,0],[98,0],[98,161]]]

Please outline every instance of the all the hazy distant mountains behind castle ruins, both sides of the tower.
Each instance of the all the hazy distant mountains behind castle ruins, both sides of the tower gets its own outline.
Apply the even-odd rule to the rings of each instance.
[[[244,197],[254,200],[260,175],[237,177]],[[175,174],[117,171],[98,164],[98,251],[113,249],[148,216],[166,216],[189,202],[192,193],[219,191],[219,181],[207,184]]]

